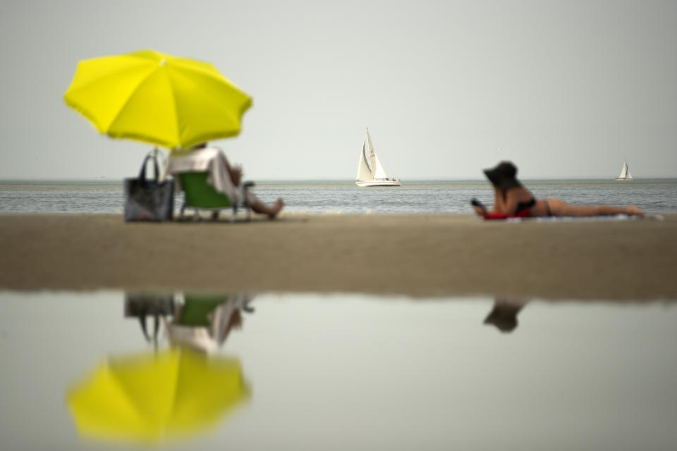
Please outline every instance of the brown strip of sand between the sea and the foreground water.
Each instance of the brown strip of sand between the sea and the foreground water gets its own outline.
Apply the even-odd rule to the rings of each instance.
[[[283,215],[124,223],[0,216],[0,287],[677,299],[677,215],[489,223],[471,216]]]

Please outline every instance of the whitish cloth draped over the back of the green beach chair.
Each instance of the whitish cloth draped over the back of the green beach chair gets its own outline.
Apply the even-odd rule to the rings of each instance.
[[[245,198],[243,188],[233,185],[231,175],[228,173],[228,160],[219,147],[171,152],[164,175],[173,175],[178,191],[181,191],[181,182],[176,174],[184,172],[208,173],[207,183],[212,185],[216,192],[226,194],[231,202],[241,202]],[[251,203],[252,194],[249,197]]]

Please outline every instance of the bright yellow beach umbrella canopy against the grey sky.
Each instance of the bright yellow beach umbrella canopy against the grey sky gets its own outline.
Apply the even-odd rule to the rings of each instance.
[[[154,50],[80,61],[63,99],[99,132],[169,148],[237,135],[252,104],[212,64]]]

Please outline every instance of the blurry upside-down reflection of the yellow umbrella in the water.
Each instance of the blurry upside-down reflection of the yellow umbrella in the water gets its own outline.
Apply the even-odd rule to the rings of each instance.
[[[67,402],[81,435],[153,443],[212,426],[247,396],[237,359],[169,350],[103,362]]]

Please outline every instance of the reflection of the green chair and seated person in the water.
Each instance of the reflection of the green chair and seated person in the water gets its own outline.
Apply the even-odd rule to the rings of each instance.
[[[242,328],[241,311],[254,311],[250,295],[185,295],[176,306],[171,323],[166,324],[169,342],[202,352],[221,347],[233,329]]]

